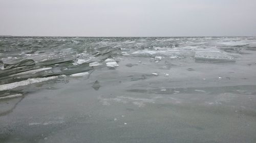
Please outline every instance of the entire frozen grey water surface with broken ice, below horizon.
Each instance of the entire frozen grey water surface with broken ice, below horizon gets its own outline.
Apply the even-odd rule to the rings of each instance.
[[[256,38],[0,38],[0,142],[256,142]]]

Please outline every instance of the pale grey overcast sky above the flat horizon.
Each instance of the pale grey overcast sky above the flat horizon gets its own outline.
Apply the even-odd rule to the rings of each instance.
[[[0,35],[256,36],[256,0],[0,0]]]

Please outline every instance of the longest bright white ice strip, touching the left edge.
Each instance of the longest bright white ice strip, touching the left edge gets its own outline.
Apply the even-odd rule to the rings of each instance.
[[[54,78],[58,78],[58,76],[50,76],[50,77],[43,77],[43,78],[29,78],[29,79],[23,80],[23,81],[2,84],[2,85],[0,85],[0,91],[10,90],[10,89],[14,89],[14,88],[17,88],[20,86],[38,83],[38,82],[42,82],[42,81],[47,81],[47,80],[51,80]]]

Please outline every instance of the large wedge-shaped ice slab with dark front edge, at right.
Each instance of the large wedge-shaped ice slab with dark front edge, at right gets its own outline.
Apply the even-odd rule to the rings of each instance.
[[[235,59],[221,51],[196,51],[195,59],[212,62],[235,62]]]

